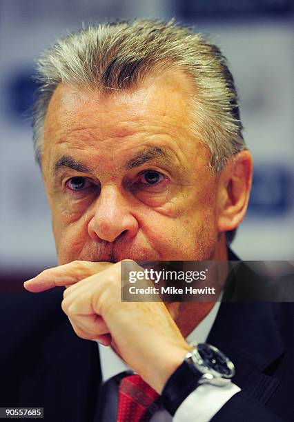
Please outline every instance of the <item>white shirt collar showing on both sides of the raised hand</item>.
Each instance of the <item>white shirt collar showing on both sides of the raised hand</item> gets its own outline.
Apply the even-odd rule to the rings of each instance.
[[[197,343],[205,343],[208,334],[215,322],[217,312],[219,310],[220,301],[216,302],[213,308],[208,312],[204,319],[194,328],[186,337],[188,343],[197,341]],[[112,350],[110,347],[99,345],[100,364],[102,370],[102,379],[106,381],[112,376],[130,370],[128,365]]]

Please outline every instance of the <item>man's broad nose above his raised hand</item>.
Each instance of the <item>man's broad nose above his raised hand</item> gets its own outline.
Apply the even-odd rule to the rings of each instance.
[[[113,242],[124,233],[126,238],[135,237],[138,230],[137,219],[131,213],[128,199],[114,186],[105,186],[95,204],[94,214],[88,223],[88,233],[92,240]]]

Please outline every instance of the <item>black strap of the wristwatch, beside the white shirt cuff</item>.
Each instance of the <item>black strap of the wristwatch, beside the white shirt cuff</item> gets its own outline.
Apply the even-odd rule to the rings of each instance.
[[[186,397],[197,388],[201,377],[202,373],[186,360],[170,375],[161,393],[161,399],[164,407],[172,416]]]

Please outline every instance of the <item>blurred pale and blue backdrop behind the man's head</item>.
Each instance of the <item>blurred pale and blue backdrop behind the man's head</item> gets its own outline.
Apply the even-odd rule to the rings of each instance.
[[[35,59],[82,23],[171,17],[210,34],[228,58],[239,90],[255,174],[233,250],[244,260],[293,260],[293,0],[1,0],[2,286],[11,288],[11,281],[56,265],[28,112]]]

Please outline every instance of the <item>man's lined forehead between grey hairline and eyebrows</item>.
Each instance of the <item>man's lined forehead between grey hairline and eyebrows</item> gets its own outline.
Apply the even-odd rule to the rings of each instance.
[[[117,152],[118,146],[130,149],[132,142],[135,147],[157,140],[175,150],[188,148],[192,92],[188,78],[178,71],[148,77],[133,90],[109,93],[61,83],[46,114],[43,157],[56,161],[62,148],[101,154],[101,149]]]

